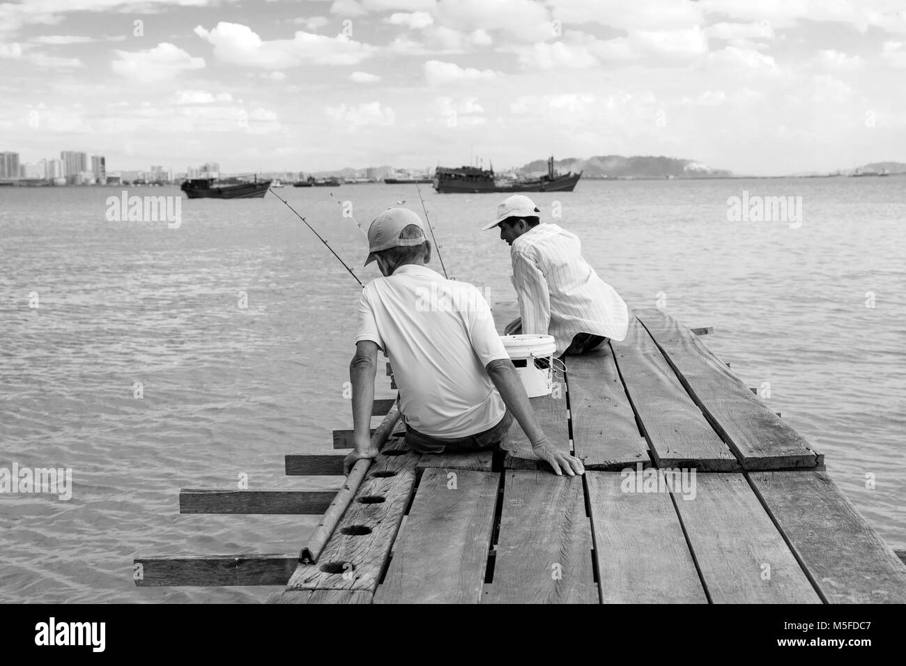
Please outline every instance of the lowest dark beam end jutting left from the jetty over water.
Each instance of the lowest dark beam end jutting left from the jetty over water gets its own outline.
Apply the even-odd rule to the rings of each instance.
[[[162,555],[136,557],[133,574],[139,587],[285,585],[298,555]]]

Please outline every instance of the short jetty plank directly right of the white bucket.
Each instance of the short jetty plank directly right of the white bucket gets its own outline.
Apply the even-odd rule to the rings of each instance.
[[[648,467],[648,447],[636,425],[611,348],[605,345],[582,356],[568,356],[566,361],[575,456],[583,460],[586,469],[616,471],[634,468],[640,461]]]

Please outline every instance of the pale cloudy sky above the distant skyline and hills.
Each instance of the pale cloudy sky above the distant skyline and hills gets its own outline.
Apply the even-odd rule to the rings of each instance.
[[[0,150],[107,169],[906,161],[906,0],[0,0]]]

